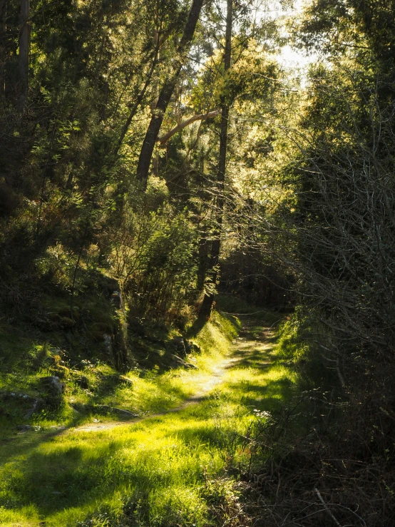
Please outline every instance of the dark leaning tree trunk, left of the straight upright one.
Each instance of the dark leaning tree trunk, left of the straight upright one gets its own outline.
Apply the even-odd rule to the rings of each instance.
[[[193,39],[193,34],[195,33],[195,27],[198,23],[203,1],[204,0],[193,0],[190,14],[188,16],[188,21],[185,25],[184,34],[177,48],[173,66],[160,91],[158,103],[156,103],[147,133],[145,134],[137,166],[137,178],[141,181],[144,189],[147,187],[151,158],[156,140],[158,138],[160,126],[162,125],[166,108],[168,108],[168,104],[170,103],[170,98],[173,94],[175,83],[177,82],[181,68],[186,61],[186,54]]]

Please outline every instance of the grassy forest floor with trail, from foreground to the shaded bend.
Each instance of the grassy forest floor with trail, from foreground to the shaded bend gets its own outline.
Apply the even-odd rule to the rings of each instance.
[[[276,358],[275,339],[265,320],[243,317],[210,368],[175,372],[193,388],[177,406],[163,401],[162,410],[130,421],[92,419],[5,437],[1,526],[206,527],[222,525],[218,510],[236,518],[235,467],[252,456],[245,434],[289,401],[297,384]]]

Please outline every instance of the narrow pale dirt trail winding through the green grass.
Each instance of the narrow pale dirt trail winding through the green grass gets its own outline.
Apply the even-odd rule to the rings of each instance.
[[[223,381],[225,373],[227,370],[232,368],[240,367],[241,365],[246,366],[250,362],[257,361],[257,355],[261,355],[259,360],[261,366],[269,365],[271,360],[267,359],[268,354],[272,350],[273,344],[272,341],[275,338],[275,333],[270,327],[262,326],[262,332],[258,335],[250,333],[250,326],[253,324],[253,320],[248,320],[245,322],[240,336],[237,337],[232,342],[232,348],[230,354],[217,364],[215,368],[212,369],[210,376],[205,376],[204,381],[200,384],[200,389],[193,396],[190,396],[188,399],[185,399],[182,404],[176,406],[170,410],[160,411],[156,414],[149,414],[143,417],[136,417],[128,421],[108,421],[108,422],[99,422],[99,423],[86,423],[81,426],[76,426],[76,428],[70,429],[69,431],[81,431],[81,432],[91,432],[91,431],[103,431],[111,430],[117,426],[130,426],[130,424],[140,423],[146,419],[151,419],[153,417],[164,416],[166,414],[173,414],[178,411],[182,411],[193,404],[199,404],[205,396],[209,394],[212,389],[217,387]],[[197,372],[198,374],[198,372]]]

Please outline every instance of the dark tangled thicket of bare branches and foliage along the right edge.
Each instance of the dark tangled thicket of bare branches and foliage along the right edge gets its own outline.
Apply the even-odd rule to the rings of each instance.
[[[279,345],[310,383],[252,443],[268,526],[394,522],[391,9],[314,1],[294,26],[300,45],[325,54],[285,132],[292,155],[277,153],[287,207],[263,225],[299,294]]]

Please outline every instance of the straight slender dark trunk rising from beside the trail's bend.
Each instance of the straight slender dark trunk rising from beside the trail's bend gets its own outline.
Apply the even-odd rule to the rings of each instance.
[[[226,15],[226,34],[225,34],[225,76],[230,69],[232,57],[232,0],[227,0]],[[212,284],[215,286],[219,275],[219,261],[222,235],[222,218],[224,210],[224,190],[225,190],[225,170],[226,170],[226,153],[227,153],[227,125],[229,121],[230,101],[226,93],[221,97],[221,131],[220,131],[220,153],[218,157],[217,172],[217,212],[215,217],[216,230],[211,245],[210,265],[212,268]],[[200,317],[209,318],[212,304],[214,302],[214,292],[206,293],[200,306]]]

